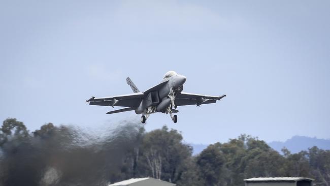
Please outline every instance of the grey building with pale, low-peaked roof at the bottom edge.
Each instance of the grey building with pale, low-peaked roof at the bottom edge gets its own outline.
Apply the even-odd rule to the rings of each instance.
[[[175,186],[174,183],[162,181],[151,177],[131,178],[124,181],[109,184],[109,186]]]

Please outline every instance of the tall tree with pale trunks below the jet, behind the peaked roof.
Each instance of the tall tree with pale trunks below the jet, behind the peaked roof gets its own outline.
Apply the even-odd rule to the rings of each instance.
[[[145,134],[143,157],[152,177],[177,181],[185,169],[185,161],[191,157],[192,148],[183,144],[177,130],[162,129]]]

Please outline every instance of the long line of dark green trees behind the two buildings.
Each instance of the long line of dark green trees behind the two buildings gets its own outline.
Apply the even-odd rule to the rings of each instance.
[[[310,177],[330,185],[330,150],[316,146],[283,155],[265,141],[241,135],[192,156],[180,132],[145,132],[124,121],[103,136],[46,123],[29,132],[15,118],[0,130],[0,185],[107,185],[154,177],[180,185],[244,185],[251,177]]]

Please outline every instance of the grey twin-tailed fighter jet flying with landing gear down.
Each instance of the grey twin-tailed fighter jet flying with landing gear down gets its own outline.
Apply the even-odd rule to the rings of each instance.
[[[170,114],[173,122],[176,123],[178,116],[173,115],[173,113],[179,112],[176,109],[177,106],[201,106],[215,103],[217,100],[220,101],[226,96],[205,96],[183,92],[183,84],[186,82],[186,77],[174,71],[167,72],[160,83],[143,92],[138,89],[129,77],[126,78],[126,82],[133,90],[133,94],[104,98],[91,97],[86,102],[89,102],[89,105],[126,107],[107,112],[107,114],[134,110],[135,113],[142,114],[142,123],[146,122],[150,114],[156,112]]]

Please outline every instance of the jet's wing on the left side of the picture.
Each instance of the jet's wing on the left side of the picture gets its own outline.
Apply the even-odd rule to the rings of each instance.
[[[139,106],[141,99],[143,99],[143,97],[144,94],[142,92],[136,92],[133,94],[113,96],[113,97],[104,97],[104,98],[91,97],[86,102],[89,102],[89,105],[136,108]]]

